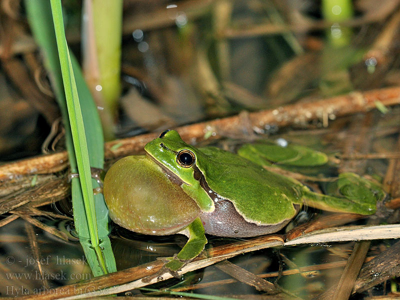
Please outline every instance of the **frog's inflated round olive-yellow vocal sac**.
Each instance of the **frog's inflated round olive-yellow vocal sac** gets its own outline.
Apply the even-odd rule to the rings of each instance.
[[[194,200],[145,155],[114,163],[105,175],[103,193],[110,218],[139,233],[176,233],[200,214]]]

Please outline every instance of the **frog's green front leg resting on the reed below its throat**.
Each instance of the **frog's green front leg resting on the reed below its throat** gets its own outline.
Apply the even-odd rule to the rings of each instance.
[[[169,272],[174,277],[179,277],[177,271],[204,250],[207,239],[205,238],[204,227],[199,217],[178,233],[186,235],[189,240],[179,253],[173,257],[166,258],[167,262],[159,270],[157,276],[160,275],[160,273]]]

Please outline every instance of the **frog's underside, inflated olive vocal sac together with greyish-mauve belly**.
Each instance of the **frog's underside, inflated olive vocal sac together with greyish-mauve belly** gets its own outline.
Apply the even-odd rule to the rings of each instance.
[[[249,223],[232,202],[217,194],[214,195],[215,209],[201,212],[180,188],[181,182],[172,181],[171,176],[149,156],[127,156],[118,160],[104,178],[103,193],[111,219],[135,232],[166,235],[180,232],[200,216],[205,233],[227,237],[275,232],[290,220],[266,226]]]

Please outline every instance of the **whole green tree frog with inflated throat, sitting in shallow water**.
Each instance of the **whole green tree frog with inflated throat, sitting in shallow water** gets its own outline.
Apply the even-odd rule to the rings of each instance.
[[[299,181],[255,163],[251,147],[240,155],[216,147],[195,148],[174,130],[148,142],[146,155],[118,160],[105,175],[111,219],[145,234],[183,233],[188,242],[165,268],[179,270],[207,242],[204,233],[247,237],[285,226],[302,204],[329,211],[372,214],[383,191],[356,174],[334,182],[337,194],[312,192]],[[320,157],[319,157],[320,158]],[[318,159],[319,159],[318,158]]]

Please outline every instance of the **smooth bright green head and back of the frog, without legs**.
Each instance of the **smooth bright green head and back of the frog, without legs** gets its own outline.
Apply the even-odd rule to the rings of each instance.
[[[295,215],[293,202],[301,203],[299,182],[219,148],[196,149],[174,130],[148,142],[144,149],[163,169],[182,180],[180,186],[202,212],[214,211],[214,200],[223,198],[231,201],[247,222],[275,225]],[[177,163],[177,154],[182,151],[195,156],[190,167]]]

